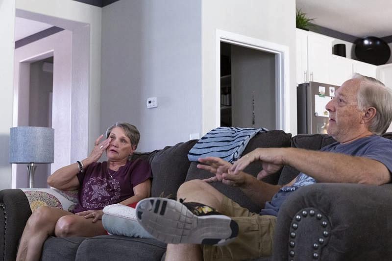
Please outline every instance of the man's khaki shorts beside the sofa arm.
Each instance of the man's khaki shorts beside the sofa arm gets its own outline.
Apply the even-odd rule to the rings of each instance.
[[[272,255],[276,216],[251,213],[223,196],[222,214],[238,223],[238,237],[225,246],[202,245],[204,261],[244,260]]]

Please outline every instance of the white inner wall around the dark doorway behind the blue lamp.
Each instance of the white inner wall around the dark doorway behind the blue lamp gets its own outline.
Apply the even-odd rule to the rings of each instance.
[[[34,90],[25,84],[25,77],[21,72],[30,68],[31,62],[54,57],[53,63],[53,99],[52,99],[52,128],[54,129],[54,163],[51,172],[70,164],[71,157],[71,93],[72,93],[72,32],[63,30],[15,49],[15,97],[14,110],[18,118],[14,119],[15,126],[24,126],[29,123],[29,107],[25,100],[29,100]],[[27,80],[28,81],[28,80]],[[87,135],[85,135],[87,137]],[[39,166],[38,166],[39,167]],[[25,188],[25,166],[18,165],[12,173],[12,187]],[[45,184],[37,183],[37,186]],[[45,186],[46,187],[46,186]]]

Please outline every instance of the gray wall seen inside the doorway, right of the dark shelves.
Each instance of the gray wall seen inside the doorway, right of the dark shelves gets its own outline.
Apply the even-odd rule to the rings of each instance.
[[[275,55],[232,45],[231,75],[232,125],[276,129]]]

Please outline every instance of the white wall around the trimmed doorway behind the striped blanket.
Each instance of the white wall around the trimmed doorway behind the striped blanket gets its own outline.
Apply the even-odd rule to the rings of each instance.
[[[202,0],[202,133],[215,127],[216,29],[284,45],[290,50],[289,126],[296,134],[295,1]]]

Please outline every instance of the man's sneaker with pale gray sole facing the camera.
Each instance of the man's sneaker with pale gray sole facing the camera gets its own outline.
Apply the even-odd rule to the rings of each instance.
[[[146,198],[137,204],[136,215],[148,233],[166,243],[225,245],[238,235],[237,222],[194,202]]]

